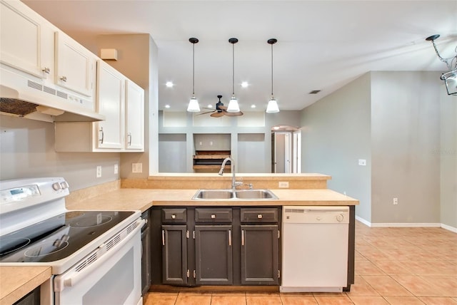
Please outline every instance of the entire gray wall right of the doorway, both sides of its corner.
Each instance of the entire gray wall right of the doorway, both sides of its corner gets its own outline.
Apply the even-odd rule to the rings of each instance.
[[[305,108],[303,172],[331,175],[367,222],[456,228],[456,97],[439,76],[371,72]]]

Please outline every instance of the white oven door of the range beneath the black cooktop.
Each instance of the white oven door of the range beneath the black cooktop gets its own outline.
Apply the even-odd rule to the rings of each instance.
[[[142,304],[140,230],[143,222],[81,271],[73,267],[55,276],[55,304]],[[94,255],[89,255],[88,261],[91,256]]]

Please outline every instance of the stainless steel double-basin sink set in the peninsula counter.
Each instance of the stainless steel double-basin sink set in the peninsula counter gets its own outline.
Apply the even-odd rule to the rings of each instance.
[[[271,190],[198,190],[192,200],[275,200]]]

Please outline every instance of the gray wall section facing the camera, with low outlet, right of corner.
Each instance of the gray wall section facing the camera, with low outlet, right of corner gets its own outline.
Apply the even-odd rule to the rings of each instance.
[[[374,223],[440,222],[439,75],[371,73]]]

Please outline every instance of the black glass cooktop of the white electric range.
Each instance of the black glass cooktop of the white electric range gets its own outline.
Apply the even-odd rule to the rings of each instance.
[[[134,214],[70,211],[0,237],[0,262],[55,262]]]

